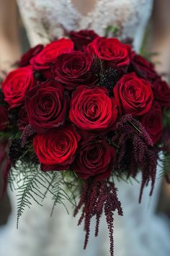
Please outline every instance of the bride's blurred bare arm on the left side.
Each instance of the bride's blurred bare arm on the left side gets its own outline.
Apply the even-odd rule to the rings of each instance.
[[[0,70],[9,70],[20,53],[16,1],[0,0]]]

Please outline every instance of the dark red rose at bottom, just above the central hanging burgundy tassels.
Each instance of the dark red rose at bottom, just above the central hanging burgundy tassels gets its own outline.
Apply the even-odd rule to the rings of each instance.
[[[81,179],[94,176],[96,180],[109,178],[115,161],[115,148],[103,138],[81,142],[73,170]]]

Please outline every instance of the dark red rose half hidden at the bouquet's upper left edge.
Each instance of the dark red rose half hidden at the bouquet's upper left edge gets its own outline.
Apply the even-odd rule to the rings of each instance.
[[[40,53],[40,51],[42,51],[42,48],[44,46],[42,46],[42,44],[39,44],[37,46],[35,46],[34,48],[30,48],[20,59],[19,61],[19,67],[25,67],[27,65],[30,64],[30,60],[35,57],[37,54]]]

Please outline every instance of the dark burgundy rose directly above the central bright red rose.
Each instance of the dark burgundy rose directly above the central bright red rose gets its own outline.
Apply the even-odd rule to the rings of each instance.
[[[91,57],[81,51],[62,54],[53,64],[53,75],[56,81],[63,83],[64,88],[75,89],[92,82],[91,64]]]

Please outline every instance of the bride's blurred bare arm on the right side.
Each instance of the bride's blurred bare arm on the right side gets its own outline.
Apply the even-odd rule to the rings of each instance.
[[[152,19],[151,50],[158,53],[153,56],[158,72],[166,73],[164,79],[170,78],[170,1],[155,0]]]

